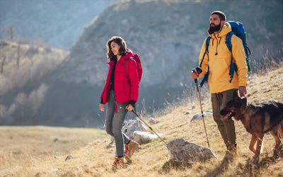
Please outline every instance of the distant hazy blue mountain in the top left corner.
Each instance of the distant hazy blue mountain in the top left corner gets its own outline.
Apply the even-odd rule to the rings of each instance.
[[[93,17],[117,0],[0,0],[0,29],[13,25],[14,38],[39,38],[68,49]]]

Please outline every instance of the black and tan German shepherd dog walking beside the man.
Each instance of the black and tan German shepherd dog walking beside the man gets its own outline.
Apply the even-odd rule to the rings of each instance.
[[[252,135],[249,148],[255,153],[253,158],[258,159],[260,156],[262,140],[266,132],[270,132],[275,138],[274,150],[279,148],[281,143],[279,137],[283,138],[283,103],[269,100],[248,104],[247,98],[240,98],[238,91],[235,91],[233,99],[220,111],[220,114],[226,115],[221,119],[223,121],[234,117],[235,120],[243,122],[247,132]],[[257,143],[256,148],[255,143]]]

